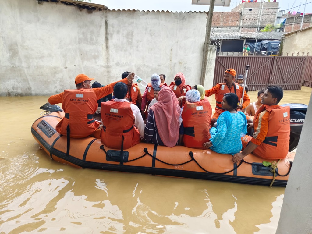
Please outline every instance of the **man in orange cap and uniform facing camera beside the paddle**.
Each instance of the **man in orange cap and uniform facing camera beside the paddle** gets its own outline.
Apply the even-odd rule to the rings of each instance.
[[[243,87],[241,87],[238,83],[234,83],[234,79],[236,76],[236,71],[232,68],[227,69],[223,75],[224,83],[217,83],[217,85],[213,86],[211,89],[206,90],[206,96],[209,97],[212,94],[215,94],[216,98],[216,108],[215,113],[212,115],[211,125],[217,122],[219,115],[224,112],[222,109],[222,100],[223,95],[226,93],[235,93],[238,96],[238,100],[241,100]],[[246,108],[250,104],[249,96],[246,91],[244,92],[243,105],[240,103],[237,105],[237,111]]]

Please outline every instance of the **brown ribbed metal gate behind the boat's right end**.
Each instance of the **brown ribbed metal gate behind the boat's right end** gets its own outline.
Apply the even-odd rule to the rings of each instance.
[[[249,90],[265,89],[267,85],[280,85],[284,90],[300,90],[307,58],[217,56],[213,83],[223,82],[224,71],[228,68],[235,69],[236,76],[239,74],[245,75],[246,65],[250,65],[246,82]],[[310,74],[312,74],[311,68]]]

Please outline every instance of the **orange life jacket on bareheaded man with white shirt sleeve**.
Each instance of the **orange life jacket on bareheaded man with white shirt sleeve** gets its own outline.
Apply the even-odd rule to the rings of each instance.
[[[101,103],[103,128],[101,141],[109,148],[129,149],[140,143],[139,130],[134,126],[130,102],[108,101]],[[124,138],[124,139],[123,139]]]

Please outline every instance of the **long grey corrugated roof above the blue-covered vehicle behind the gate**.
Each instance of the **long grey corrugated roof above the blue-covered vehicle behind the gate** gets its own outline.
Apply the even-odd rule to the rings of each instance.
[[[258,37],[257,37],[258,34]],[[239,39],[280,39],[285,32],[212,32],[211,40],[239,40]]]

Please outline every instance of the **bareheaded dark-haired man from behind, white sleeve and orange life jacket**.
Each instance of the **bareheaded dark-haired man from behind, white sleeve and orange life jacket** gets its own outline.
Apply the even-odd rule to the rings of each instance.
[[[144,138],[141,112],[125,99],[127,92],[127,85],[118,82],[114,86],[115,99],[101,103],[101,141],[109,148],[129,149]]]

